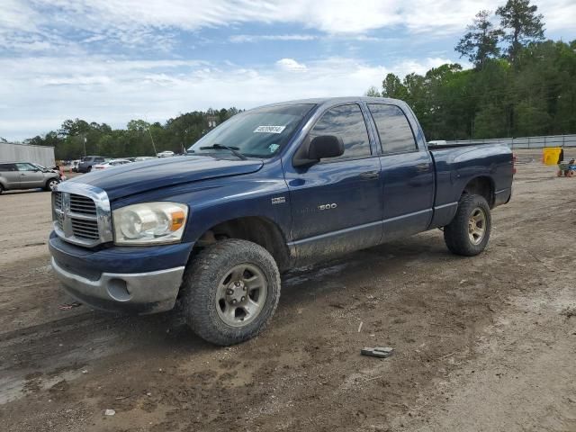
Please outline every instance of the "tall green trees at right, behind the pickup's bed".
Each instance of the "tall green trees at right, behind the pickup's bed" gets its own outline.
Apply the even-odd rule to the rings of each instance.
[[[545,40],[529,0],[480,11],[455,50],[473,63],[388,74],[366,95],[402,99],[428,139],[482,139],[576,133],[576,40]]]

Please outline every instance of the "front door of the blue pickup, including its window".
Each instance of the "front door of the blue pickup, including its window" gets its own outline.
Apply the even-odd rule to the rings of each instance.
[[[380,161],[373,154],[365,115],[357,103],[330,108],[306,139],[336,135],[344,142],[344,154],[311,166],[285,166],[300,262],[380,242]]]

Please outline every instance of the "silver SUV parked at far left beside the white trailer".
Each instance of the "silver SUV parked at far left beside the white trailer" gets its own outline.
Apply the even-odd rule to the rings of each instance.
[[[51,191],[60,183],[60,173],[30,162],[0,162],[0,193],[37,187]]]

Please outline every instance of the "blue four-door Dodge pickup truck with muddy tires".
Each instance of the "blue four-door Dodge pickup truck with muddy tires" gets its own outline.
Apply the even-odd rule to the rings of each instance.
[[[264,329],[295,266],[435,228],[455,254],[481,253],[513,174],[506,146],[428,149],[399,100],[275,103],[223,122],[187,156],[58,184],[51,264],[81,302],[177,303],[200,337],[231,345]]]

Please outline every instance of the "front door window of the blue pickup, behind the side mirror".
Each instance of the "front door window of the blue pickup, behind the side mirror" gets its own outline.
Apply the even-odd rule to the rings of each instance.
[[[344,154],[326,161],[370,157],[370,139],[366,123],[356,103],[341,105],[325,112],[310,132],[310,139],[320,135],[336,135],[344,141]]]

